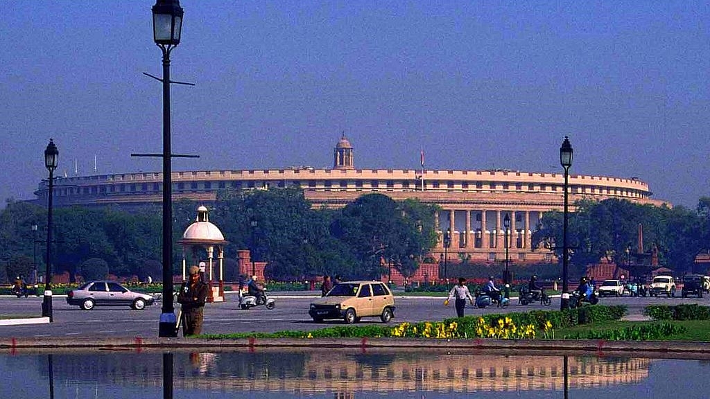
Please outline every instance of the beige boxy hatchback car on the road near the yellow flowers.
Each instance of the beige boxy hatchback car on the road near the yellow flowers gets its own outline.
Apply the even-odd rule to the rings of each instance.
[[[317,323],[324,319],[344,319],[347,324],[353,324],[362,317],[380,317],[383,323],[388,323],[394,312],[394,295],[384,283],[345,281],[311,302],[308,315]]]

